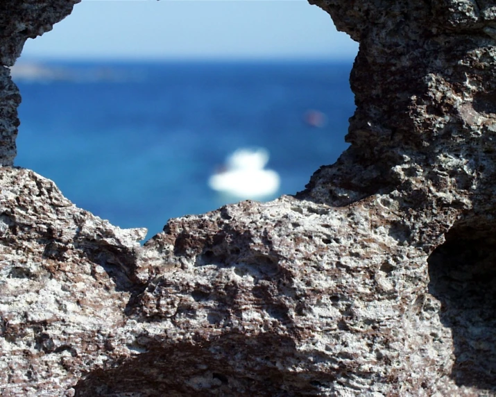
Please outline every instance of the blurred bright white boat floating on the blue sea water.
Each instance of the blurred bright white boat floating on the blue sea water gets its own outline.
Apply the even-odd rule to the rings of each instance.
[[[212,175],[208,185],[216,192],[240,199],[260,199],[277,192],[277,172],[264,169],[268,162],[265,149],[238,149],[226,160],[222,171]]]

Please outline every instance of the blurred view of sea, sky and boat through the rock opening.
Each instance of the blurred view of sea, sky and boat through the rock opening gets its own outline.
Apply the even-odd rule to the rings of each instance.
[[[295,194],[347,147],[356,53],[305,0],[83,0],[12,68],[16,165],[148,237]]]

